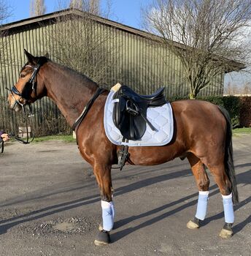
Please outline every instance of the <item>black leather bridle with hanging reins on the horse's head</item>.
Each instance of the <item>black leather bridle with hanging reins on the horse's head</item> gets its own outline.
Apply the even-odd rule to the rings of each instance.
[[[21,139],[18,136],[15,136],[14,138],[18,140],[20,143],[28,144],[31,143],[34,140],[34,132],[32,132],[31,139],[28,138],[28,118],[31,118],[34,116],[32,114],[32,108],[31,108],[31,102],[30,99],[28,99],[28,96],[34,91],[34,94],[36,95],[36,75],[39,72],[39,68],[41,67],[41,64],[36,64],[36,66],[26,65],[25,67],[31,67],[33,69],[33,72],[31,74],[31,78],[26,82],[25,86],[23,87],[22,91],[19,91],[16,86],[12,86],[12,89],[6,88],[10,93],[12,94],[13,99],[15,99],[15,104],[20,105],[20,107],[23,110],[23,122],[26,123],[26,140]],[[15,95],[19,96],[19,99],[15,97]],[[28,112],[26,111],[26,105],[28,106]],[[32,118],[30,119],[31,127],[34,127]],[[33,130],[33,129],[31,129]]]

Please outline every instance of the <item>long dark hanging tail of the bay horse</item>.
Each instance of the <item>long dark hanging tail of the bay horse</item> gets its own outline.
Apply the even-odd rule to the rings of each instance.
[[[226,132],[226,138],[225,138],[225,172],[227,173],[227,176],[229,180],[231,181],[232,185],[232,198],[233,203],[239,203],[239,195],[237,190],[237,184],[236,184],[236,174],[234,170],[233,165],[233,144],[232,144],[232,129],[231,129],[231,117],[225,108],[218,106],[220,109],[220,112],[223,113],[223,116],[225,117],[225,120],[227,122],[227,132]]]

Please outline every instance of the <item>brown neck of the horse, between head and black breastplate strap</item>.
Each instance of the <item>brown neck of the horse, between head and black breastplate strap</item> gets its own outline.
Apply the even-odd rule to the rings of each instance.
[[[45,68],[47,97],[53,99],[72,126],[98,86],[87,77],[53,62],[48,62]]]

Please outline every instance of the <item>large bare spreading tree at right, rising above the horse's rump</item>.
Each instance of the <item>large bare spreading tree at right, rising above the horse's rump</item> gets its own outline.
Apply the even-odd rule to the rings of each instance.
[[[153,0],[142,15],[182,62],[191,99],[216,75],[248,62],[250,0]]]

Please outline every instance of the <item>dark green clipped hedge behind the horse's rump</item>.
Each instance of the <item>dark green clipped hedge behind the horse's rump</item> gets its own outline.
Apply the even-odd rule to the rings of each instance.
[[[169,99],[170,102],[179,99],[188,99],[181,97],[173,97]],[[240,110],[241,110],[241,98],[236,96],[210,96],[210,97],[198,97],[197,99],[205,100],[207,102],[212,102],[215,105],[220,105],[226,110],[228,110],[231,116],[232,127],[239,127],[240,124]],[[193,99],[191,99],[193,100]]]

